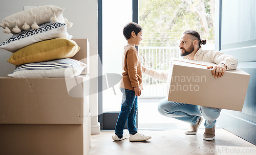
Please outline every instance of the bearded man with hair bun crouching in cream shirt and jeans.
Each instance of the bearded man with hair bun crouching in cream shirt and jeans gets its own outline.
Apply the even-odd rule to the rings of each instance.
[[[215,78],[222,77],[226,70],[236,69],[238,64],[237,58],[225,55],[220,51],[202,50],[201,44],[205,43],[206,40],[201,40],[198,32],[194,30],[185,31],[181,36],[179,45],[181,56],[184,59],[215,63],[215,66],[207,67],[211,69],[212,75]],[[154,79],[161,81],[167,81],[167,76],[171,76],[166,71],[145,68],[144,66],[142,66],[142,71]],[[165,97],[159,102],[158,111],[166,117],[176,118],[189,123],[190,129],[185,132],[187,135],[195,135],[197,133],[202,122],[202,117],[204,117],[205,132],[203,139],[215,139],[215,123],[220,115],[221,109],[167,101],[167,97]]]

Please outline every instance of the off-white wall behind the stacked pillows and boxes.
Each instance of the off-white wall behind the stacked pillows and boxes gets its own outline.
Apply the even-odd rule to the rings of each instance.
[[[73,38],[88,38],[90,42],[90,55],[96,56],[98,54],[98,3],[96,0],[13,0],[3,1],[0,5],[0,21],[13,13],[24,10],[24,6],[44,6],[54,5],[60,8],[66,8],[63,16],[73,23],[72,28],[68,28],[68,33],[73,35]],[[3,28],[0,27],[0,43],[11,37],[11,34],[5,34]],[[15,66],[8,63],[12,53],[0,48],[0,76],[7,76],[11,73]],[[98,57],[92,57],[90,60],[90,77],[98,76]],[[1,87],[1,86],[0,86]],[[92,113],[92,126],[99,128],[98,121],[98,94],[90,96],[90,111]],[[92,131],[93,133],[93,131]],[[97,132],[96,132],[97,133]]]

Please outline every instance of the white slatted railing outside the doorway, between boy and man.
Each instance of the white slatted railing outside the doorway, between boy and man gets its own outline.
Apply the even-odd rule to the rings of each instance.
[[[167,70],[170,59],[179,57],[179,47],[139,47],[142,65],[156,70]],[[141,97],[166,97],[166,82],[152,79],[143,74],[143,91]]]

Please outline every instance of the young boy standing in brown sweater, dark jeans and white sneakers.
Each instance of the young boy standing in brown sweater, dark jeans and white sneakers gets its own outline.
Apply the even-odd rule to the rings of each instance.
[[[139,45],[142,40],[142,28],[135,22],[130,22],[123,28],[123,35],[127,40],[127,45],[123,50],[123,71],[120,89],[122,95],[122,106],[115,127],[115,134],[112,139],[120,141],[129,137],[123,132],[127,120],[127,127],[130,133],[130,141],[145,141],[151,136],[138,133],[136,128],[136,114],[138,111],[138,96],[142,90],[142,69],[138,51],[135,45]]]

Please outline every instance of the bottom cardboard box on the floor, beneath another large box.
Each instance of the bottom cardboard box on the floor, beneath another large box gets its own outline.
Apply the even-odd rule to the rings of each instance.
[[[85,155],[91,143],[91,114],[83,124],[0,124],[0,154]]]

